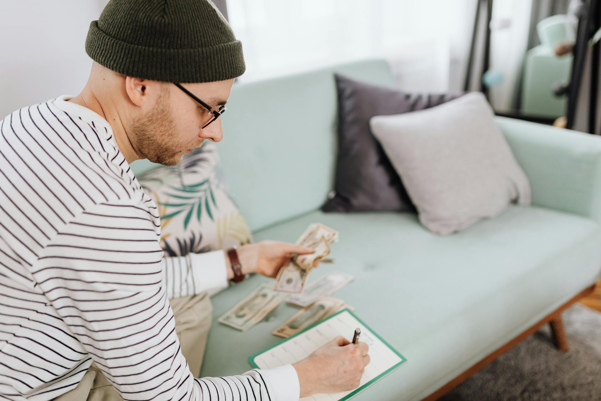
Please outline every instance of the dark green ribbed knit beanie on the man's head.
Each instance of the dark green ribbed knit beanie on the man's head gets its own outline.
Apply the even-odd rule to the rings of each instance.
[[[242,43],[209,0],[111,0],[90,23],[85,51],[136,78],[213,82],[246,66]]]

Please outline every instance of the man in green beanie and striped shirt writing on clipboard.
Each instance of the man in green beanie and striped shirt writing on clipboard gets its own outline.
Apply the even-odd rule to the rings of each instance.
[[[0,121],[0,399],[276,401],[355,388],[367,345],[343,338],[293,366],[194,378],[206,290],[275,277],[311,251],[268,241],[162,257],[156,204],[129,164],[174,165],[221,140],[245,70],[221,13],[209,0],[113,0],[85,46],[94,63],[78,96]]]

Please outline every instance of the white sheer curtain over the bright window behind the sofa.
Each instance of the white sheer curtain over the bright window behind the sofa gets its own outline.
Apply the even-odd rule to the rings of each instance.
[[[227,0],[241,82],[384,57],[405,90],[462,86],[475,0]]]

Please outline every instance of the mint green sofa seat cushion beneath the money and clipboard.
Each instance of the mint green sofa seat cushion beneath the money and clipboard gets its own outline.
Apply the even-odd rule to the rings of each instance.
[[[340,231],[333,269],[355,276],[334,294],[407,358],[357,399],[421,399],[590,286],[599,276],[597,222],[538,206],[513,206],[451,236],[423,228],[413,213],[311,212],[254,233],[294,242],[312,222]],[[254,276],[213,298],[214,318],[259,283]],[[248,369],[249,356],[296,309],[280,305],[242,333],[213,322],[203,376]],[[534,316],[534,317],[533,317]],[[228,352],[235,346],[235,352]],[[392,394],[395,394],[393,397]]]

